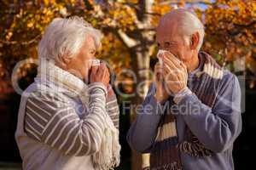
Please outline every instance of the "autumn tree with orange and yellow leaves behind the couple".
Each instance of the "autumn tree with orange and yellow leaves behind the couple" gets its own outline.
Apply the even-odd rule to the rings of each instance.
[[[45,26],[55,17],[79,15],[104,34],[99,57],[108,60],[117,74],[124,68],[136,74],[137,79],[127,73],[120,74],[118,81],[124,81],[121,86],[125,87],[132,104],[137,105],[143,101],[152,79],[150,59],[155,59],[157,50],[154,28],[160,16],[172,8],[188,8],[198,15],[206,30],[203,50],[212,54],[220,65],[255,77],[256,4],[253,0],[2,0],[0,77],[11,86],[10,75],[16,63],[38,58],[38,41]],[[30,64],[24,65],[17,74],[26,77],[32,68],[35,69]],[[131,110],[131,121],[135,113]],[[141,167],[140,158],[133,152],[132,169]]]

